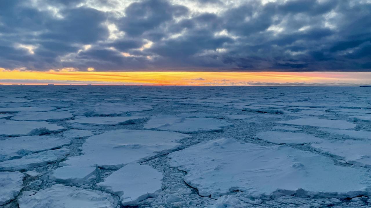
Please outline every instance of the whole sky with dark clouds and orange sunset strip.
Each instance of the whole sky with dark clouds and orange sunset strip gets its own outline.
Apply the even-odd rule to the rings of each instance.
[[[0,84],[371,84],[371,0],[2,0]]]

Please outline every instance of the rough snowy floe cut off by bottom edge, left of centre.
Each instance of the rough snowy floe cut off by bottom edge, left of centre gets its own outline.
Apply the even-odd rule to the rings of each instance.
[[[108,193],[56,184],[18,200],[20,208],[119,208]]]

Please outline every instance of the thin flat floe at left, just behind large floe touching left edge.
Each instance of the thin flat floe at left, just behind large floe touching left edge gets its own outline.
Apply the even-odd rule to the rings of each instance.
[[[12,117],[11,120],[15,121],[63,121],[72,119],[72,113],[58,112],[58,111],[46,111],[46,112],[35,112],[35,111],[21,111]]]

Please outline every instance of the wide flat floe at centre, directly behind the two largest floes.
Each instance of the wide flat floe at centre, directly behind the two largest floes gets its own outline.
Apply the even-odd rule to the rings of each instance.
[[[178,131],[193,134],[200,131],[222,131],[232,124],[214,118],[184,118],[173,115],[157,115],[144,125],[147,129]]]

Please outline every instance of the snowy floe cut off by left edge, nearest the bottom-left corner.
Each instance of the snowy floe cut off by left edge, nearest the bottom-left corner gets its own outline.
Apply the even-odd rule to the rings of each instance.
[[[23,178],[21,172],[0,172],[0,206],[18,196],[23,188]]]

